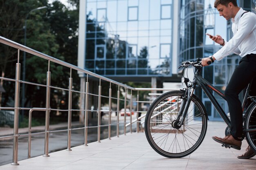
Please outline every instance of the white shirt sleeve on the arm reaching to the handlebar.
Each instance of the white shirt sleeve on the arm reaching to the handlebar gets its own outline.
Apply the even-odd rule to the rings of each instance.
[[[256,23],[256,19],[252,15],[244,15],[244,17],[239,20],[238,31],[236,34],[229,40],[225,46],[223,46],[218,52],[213,56],[216,60],[221,60],[230,53],[234,52],[236,54],[240,53],[238,46],[243,42],[243,40],[252,32]]]

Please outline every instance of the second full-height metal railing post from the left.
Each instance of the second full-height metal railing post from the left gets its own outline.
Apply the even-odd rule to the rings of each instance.
[[[51,72],[47,71],[47,88],[46,88],[46,107],[45,108],[50,108],[50,85],[51,85]],[[49,157],[50,155],[48,155],[49,153],[49,119],[50,119],[50,110],[46,110],[45,111],[45,154],[43,155],[43,157]]]

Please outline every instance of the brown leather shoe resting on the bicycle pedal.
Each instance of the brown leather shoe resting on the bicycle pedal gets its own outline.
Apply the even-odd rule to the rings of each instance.
[[[234,139],[232,135],[225,136],[224,138],[214,136],[212,137],[212,139],[220,144],[230,146],[231,148],[234,148],[237,150],[241,149],[242,142]]]

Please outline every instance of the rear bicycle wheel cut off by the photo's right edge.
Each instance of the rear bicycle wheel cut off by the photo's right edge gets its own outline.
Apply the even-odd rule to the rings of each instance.
[[[256,103],[250,104],[245,114],[244,128],[246,130],[256,128]],[[249,146],[256,152],[256,132],[245,132],[245,137]]]

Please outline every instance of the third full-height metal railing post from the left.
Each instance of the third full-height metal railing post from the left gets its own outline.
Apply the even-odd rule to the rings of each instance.
[[[72,78],[71,78],[71,71],[70,71],[70,78],[69,78],[69,93],[68,93],[68,120],[67,120],[67,149],[71,149],[71,117],[72,117]]]

